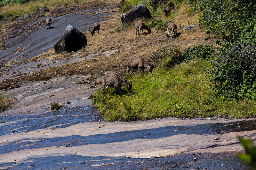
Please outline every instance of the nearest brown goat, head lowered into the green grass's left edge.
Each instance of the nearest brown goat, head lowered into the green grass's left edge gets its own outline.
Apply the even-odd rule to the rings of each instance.
[[[108,87],[114,88],[115,94],[117,89],[121,92],[121,87],[124,86],[129,91],[129,93],[132,93],[132,82],[126,81],[119,77],[115,72],[112,74],[111,72],[106,72],[105,76],[103,76],[103,88],[101,95],[103,94],[104,89],[106,88],[106,92],[108,94]],[[122,94],[122,92],[121,92]]]

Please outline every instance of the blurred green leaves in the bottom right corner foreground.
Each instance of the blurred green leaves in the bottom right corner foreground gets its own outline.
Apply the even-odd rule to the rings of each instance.
[[[245,139],[243,137],[237,137],[240,143],[243,145],[245,154],[239,154],[238,157],[249,165],[250,170],[256,169],[256,146],[253,145],[252,139]]]

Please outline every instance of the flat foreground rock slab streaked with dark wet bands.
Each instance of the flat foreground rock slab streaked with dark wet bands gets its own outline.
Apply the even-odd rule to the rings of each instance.
[[[91,107],[0,119],[0,168],[10,169],[246,169],[236,135],[256,137],[255,119],[104,122]]]

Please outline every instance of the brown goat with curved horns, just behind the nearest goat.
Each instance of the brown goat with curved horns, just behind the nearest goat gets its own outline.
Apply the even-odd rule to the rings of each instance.
[[[131,58],[127,61],[127,74],[132,74],[134,71],[139,71],[139,74],[144,72],[144,69],[147,69],[149,73],[152,73],[154,69],[154,62],[146,62],[143,57]]]

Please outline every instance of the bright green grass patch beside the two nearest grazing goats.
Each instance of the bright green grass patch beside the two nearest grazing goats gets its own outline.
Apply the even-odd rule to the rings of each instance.
[[[132,78],[132,94],[114,95],[100,88],[92,94],[92,102],[105,120],[134,121],[164,117],[255,117],[256,103],[251,100],[230,100],[214,97],[208,87],[205,59],[193,59],[172,68],[158,67],[152,74]],[[122,88],[126,91],[125,88]]]

